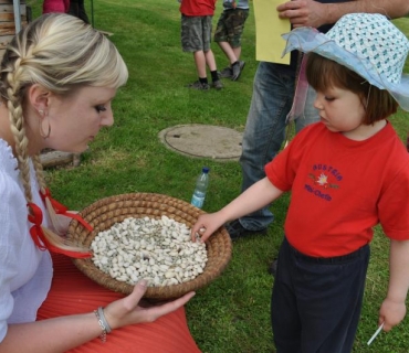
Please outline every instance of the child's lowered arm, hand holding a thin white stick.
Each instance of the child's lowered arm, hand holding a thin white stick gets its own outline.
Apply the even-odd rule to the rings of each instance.
[[[389,331],[403,320],[409,289],[409,240],[390,240],[389,288],[379,311],[379,324]]]

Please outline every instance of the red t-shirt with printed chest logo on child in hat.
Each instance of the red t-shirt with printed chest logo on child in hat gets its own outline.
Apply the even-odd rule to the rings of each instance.
[[[349,254],[371,240],[378,223],[388,237],[409,239],[409,154],[389,122],[365,141],[311,125],[265,173],[292,191],[285,235],[303,254]]]

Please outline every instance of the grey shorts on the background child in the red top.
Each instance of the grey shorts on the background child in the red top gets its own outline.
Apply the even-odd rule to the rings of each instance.
[[[181,15],[181,47],[183,52],[207,52],[211,42],[212,15]]]

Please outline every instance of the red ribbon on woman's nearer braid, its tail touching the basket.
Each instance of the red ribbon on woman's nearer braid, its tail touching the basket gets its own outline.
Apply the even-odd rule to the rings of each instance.
[[[40,250],[44,252],[49,249],[50,252],[64,254],[66,256],[75,257],[75,258],[87,258],[92,256],[90,252],[81,253],[81,252],[65,250],[65,249],[61,249],[52,245],[45,237],[43,228],[41,226],[43,222],[43,213],[41,212],[41,208],[32,202],[28,203],[28,207],[30,208],[29,221],[33,224],[33,226],[30,228],[30,235],[35,246]]]

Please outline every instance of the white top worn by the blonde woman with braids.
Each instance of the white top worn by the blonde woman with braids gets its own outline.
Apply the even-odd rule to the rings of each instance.
[[[31,164],[33,202],[45,212]],[[36,248],[30,236],[27,201],[18,161],[0,139],[0,342],[8,324],[35,321],[51,286],[49,252]]]

